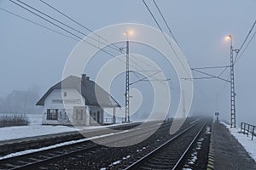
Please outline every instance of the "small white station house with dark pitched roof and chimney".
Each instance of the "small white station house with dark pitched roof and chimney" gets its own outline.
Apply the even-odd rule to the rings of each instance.
[[[103,124],[104,108],[113,108],[114,115],[115,108],[120,107],[108,92],[85,74],[56,83],[36,105],[44,106],[43,124],[83,126]]]

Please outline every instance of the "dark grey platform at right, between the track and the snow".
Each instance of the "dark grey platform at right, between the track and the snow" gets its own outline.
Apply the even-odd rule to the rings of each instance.
[[[255,146],[256,147],[256,146]],[[212,123],[207,170],[256,170],[256,163],[224,124]]]

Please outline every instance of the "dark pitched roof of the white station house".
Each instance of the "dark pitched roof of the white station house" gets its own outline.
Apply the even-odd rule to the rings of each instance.
[[[56,83],[53,87],[44,94],[44,96],[39,99],[36,105],[44,105],[44,99],[54,90],[62,88],[76,88],[79,93],[85,99],[85,105],[96,105],[102,107],[120,107],[119,103],[113,99],[113,97],[108,94],[103,88],[89,79],[82,79],[81,77],[69,76]]]

